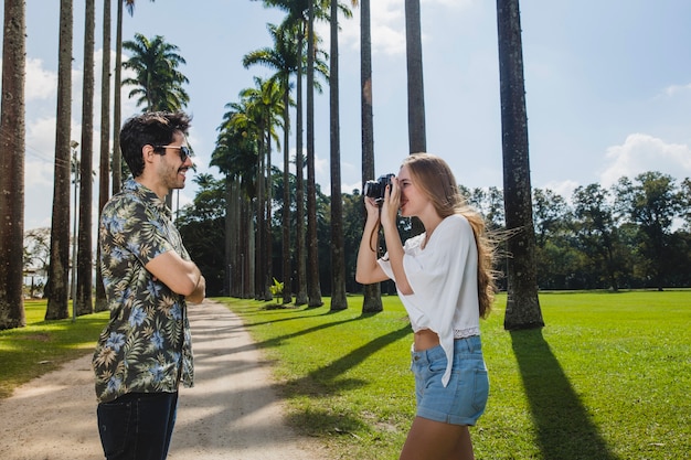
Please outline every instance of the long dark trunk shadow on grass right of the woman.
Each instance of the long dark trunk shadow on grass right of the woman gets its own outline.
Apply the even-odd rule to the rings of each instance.
[[[542,330],[512,331],[513,353],[544,460],[618,460],[564,374]]]

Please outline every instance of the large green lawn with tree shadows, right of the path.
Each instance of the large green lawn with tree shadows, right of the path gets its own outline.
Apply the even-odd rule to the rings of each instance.
[[[275,309],[221,299],[275,361],[291,425],[333,458],[396,459],[414,417],[412,333],[384,311]],[[540,295],[545,328],[483,321],[490,398],[471,428],[478,459],[691,458],[691,291]],[[267,308],[270,306],[269,308]]]

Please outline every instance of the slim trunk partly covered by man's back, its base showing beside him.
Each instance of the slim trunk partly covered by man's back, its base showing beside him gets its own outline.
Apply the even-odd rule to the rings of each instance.
[[[120,0],[117,0],[120,1]],[[103,62],[100,71],[100,154],[98,162],[98,218],[110,191],[110,0],[103,2]],[[107,309],[100,274],[100,247],[96,247],[96,299],[94,309]]]

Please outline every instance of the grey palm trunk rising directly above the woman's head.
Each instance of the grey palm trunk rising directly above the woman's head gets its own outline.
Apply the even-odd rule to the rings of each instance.
[[[411,153],[427,151],[421,22],[419,0],[405,0],[405,55],[408,78],[408,143]]]

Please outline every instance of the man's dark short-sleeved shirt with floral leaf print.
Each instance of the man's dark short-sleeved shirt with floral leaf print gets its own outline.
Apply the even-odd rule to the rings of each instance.
[[[184,297],[145,268],[168,250],[190,260],[170,210],[156,193],[130,179],[103,208],[98,244],[110,310],[93,360],[98,400],[126,393],[171,393],[180,382],[192,386]]]

